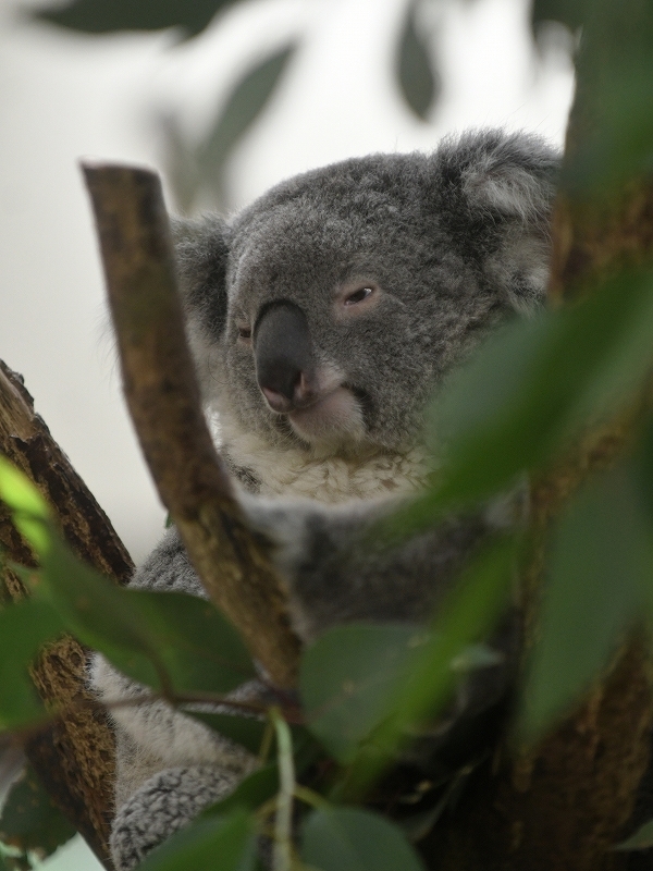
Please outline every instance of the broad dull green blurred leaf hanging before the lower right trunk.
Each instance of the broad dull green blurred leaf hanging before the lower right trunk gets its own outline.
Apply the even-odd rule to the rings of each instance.
[[[653,587],[653,527],[631,467],[591,480],[554,535],[519,732],[541,735],[586,690]]]

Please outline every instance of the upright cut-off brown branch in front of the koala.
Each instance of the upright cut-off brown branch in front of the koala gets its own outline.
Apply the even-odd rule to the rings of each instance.
[[[244,523],[201,410],[159,179],[111,165],[85,173],[124,391],[159,494],[210,598],[271,679],[292,687],[299,642],[283,584]]]

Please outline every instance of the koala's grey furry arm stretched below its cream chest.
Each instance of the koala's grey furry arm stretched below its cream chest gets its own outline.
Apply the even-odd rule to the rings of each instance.
[[[496,528],[479,513],[385,548],[374,542],[374,527],[399,506],[395,499],[324,505],[244,495],[242,502],[252,526],[273,543],[294,626],[306,642],[352,621],[422,623],[466,555]]]

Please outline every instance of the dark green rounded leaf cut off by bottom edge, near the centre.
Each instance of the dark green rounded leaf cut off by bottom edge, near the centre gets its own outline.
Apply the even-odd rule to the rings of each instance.
[[[301,859],[320,871],[423,871],[402,831],[358,808],[320,808],[301,831]]]

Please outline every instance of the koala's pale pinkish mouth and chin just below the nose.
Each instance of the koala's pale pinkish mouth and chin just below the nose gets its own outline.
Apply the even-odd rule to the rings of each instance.
[[[310,444],[340,445],[365,438],[365,414],[357,396],[341,384],[310,405],[288,412],[295,433]]]

